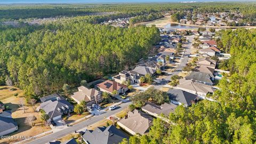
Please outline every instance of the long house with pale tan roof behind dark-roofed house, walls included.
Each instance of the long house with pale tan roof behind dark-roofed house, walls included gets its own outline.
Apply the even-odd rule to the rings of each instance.
[[[212,86],[191,81],[189,79],[180,79],[175,89],[183,90],[189,93],[206,96],[207,93],[213,93]]]

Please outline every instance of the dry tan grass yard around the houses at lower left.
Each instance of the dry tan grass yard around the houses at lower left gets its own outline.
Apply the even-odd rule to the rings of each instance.
[[[11,89],[17,89],[17,90],[11,90]],[[18,95],[16,94],[18,93]],[[17,96],[14,96],[17,95]],[[35,107],[39,106],[39,104],[35,105],[35,107],[31,107],[26,105],[25,106],[25,113],[21,107],[19,107],[19,101],[23,97],[23,91],[18,89],[17,87],[13,86],[0,86],[0,100],[5,104],[6,108],[11,109],[12,111],[12,118],[14,118],[14,121],[18,123],[19,130],[17,132],[13,132],[9,135],[15,135],[15,136],[34,136],[46,131],[51,130],[50,126],[45,126],[44,123],[41,122],[40,114],[35,112]],[[35,121],[33,123],[34,126],[30,126],[25,123],[25,120],[29,116],[35,116]],[[0,140],[0,143],[6,142],[5,140]],[[9,140],[10,142],[19,141],[19,139],[16,140]]]

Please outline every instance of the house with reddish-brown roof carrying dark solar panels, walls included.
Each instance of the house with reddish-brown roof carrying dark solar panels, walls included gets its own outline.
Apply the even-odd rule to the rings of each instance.
[[[128,87],[123,84],[119,84],[115,81],[105,81],[100,84],[97,84],[96,87],[100,89],[102,92],[108,92],[113,94],[113,91],[117,91],[117,94],[125,93],[128,90]]]

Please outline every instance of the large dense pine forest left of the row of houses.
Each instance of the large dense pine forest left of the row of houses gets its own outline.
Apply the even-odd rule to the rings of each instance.
[[[67,21],[43,28],[0,31],[1,81],[25,90],[27,98],[91,81],[134,65],[159,38],[155,27],[129,29]]]

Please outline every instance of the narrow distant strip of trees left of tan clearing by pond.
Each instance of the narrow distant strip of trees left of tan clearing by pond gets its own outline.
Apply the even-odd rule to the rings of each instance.
[[[162,13],[150,13],[148,15],[138,15],[134,18],[131,18],[129,21],[129,24],[134,25],[135,23],[151,21],[151,20],[160,19],[163,17],[164,16]]]

